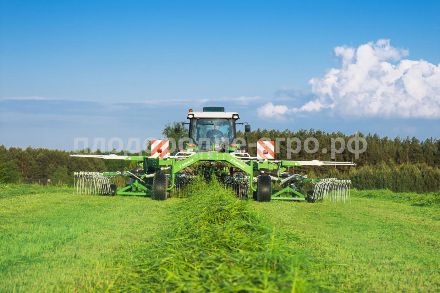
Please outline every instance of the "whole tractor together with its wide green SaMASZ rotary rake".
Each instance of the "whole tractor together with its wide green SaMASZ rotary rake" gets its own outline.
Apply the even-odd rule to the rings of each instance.
[[[289,167],[356,164],[275,160],[273,141],[258,141],[257,156],[252,157],[246,145],[234,143],[237,125],[246,124],[245,133],[250,131],[249,124],[236,122],[238,113],[224,112],[222,107],[205,107],[202,112],[190,109],[187,118],[190,142],[175,155],[169,153],[168,140],[152,140],[150,156],[71,155],[136,162],[136,168],[124,172],[75,172],[73,193],[142,195],[165,200],[170,193],[185,193],[196,176],[216,176],[240,198],[350,202],[350,180],[308,179],[306,175],[291,174],[287,170]],[[117,176],[128,178],[125,187],[119,190],[114,183]],[[273,190],[272,183],[278,183],[282,190]],[[302,194],[297,183],[308,183],[312,189]]]

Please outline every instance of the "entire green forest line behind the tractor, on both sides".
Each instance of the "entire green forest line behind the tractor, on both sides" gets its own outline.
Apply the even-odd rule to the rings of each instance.
[[[168,123],[163,129],[164,137],[173,137],[178,141],[186,137],[187,129],[176,127],[177,122]],[[257,129],[252,132],[237,132],[237,137],[246,138],[247,143],[256,143],[260,138],[275,140],[281,138],[279,152],[275,159],[278,160],[320,160],[320,161],[352,161],[357,165],[325,166],[325,167],[296,167],[290,172],[308,174],[309,178],[338,177],[351,179],[353,186],[359,189],[389,188],[395,191],[426,192],[440,189],[440,140],[428,138],[419,141],[413,138],[380,137],[377,134],[359,134],[367,141],[367,149],[359,154],[349,152],[347,149],[341,154],[330,157],[331,139],[340,137],[345,141],[354,137],[341,132],[323,132],[313,129],[299,129],[292,132]],[[314,154],[305,151],[304,146],[297,153],[291,153],[288,158],[288,139],[297,137],[301,143],[313,137],[319,142],[319,150]],[[284,139],[284,140],[282,140]],[[354,143],[353,143],[354,146]],[[314,143],[309,143],[312,149]],[[337,146],[338,148],[339,146]],[[296,149],[294,142],[292,149]],[[323,153],[323,148],[329,150]],[[256,155],[256,147],[249,147],[249,154]],[[73,172],[95,171],[115,172],[130,168],[130,162],[121,160],[103,160],[98,158],[70,157],[73,151],[49,150],[46,148],[19,147],[6,148],[0,146],[0,182],[20,182],[21,179],[47,179],[54,182],[69,183]],[[91,150],[88,150],[91,154]],[[94,154],[109,154],[97,150]],[[122,154],[122,152],[120,153]],[[146,153],[145,153],[146,154]],[[68,182],[66,182],[68,181]]]

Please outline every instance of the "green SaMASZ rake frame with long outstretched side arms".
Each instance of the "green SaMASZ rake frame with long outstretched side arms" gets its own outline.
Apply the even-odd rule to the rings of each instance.
[[[234,166],[238,168],[242,172],[246,173],[246,181],[243,179],[243,182],[248,182],[247,192],[255,192],[257,191],[257,174],[264,172],[273,172],[276,170],[276,177],[271,176],[272,181],[279,181],[281,184],[284,184],[290,180],[296,182],[308,182],[313,183],[315,187],[321,187],[319,183],[321,182],[330,182],[327,179],[306,179],[307,176],[300,176],[298,174],[289,174],[286,176],[286,168],[290,166],[301,167],[302,165],[356,165],[351,162],[323,162],[323,161],[275,161],[275,160],[261,160],[256,157],[246,156],[246,154],[236,154],[236,153],[219,153],[215,151],[209,152],[188,152],[188,153],[180,153],[176,156],[170,156],[169,158],[161,158],[161,157],[149,157],[149,156],[115,156],[115,155],[71,155],[76,157],[101,157],[103,159],[119,159],[125,161],[136,161],[138,165],[143,165],[143,170],[145,174],[141,177],[134,176],[132,173],[121,173],[121,172],[104,172],[101,173],[100,176],[110,176],[114,178],[115,176],[131,176],[134,181],[120,190],[117,190],[118,195],[140,195],[151,197],[153,195],[153,191],[145,187],[141,181],[143,179],[154,176],[154,172],[157,170],[170,169],[171,172],[168,175],[170,179],[170,185],[167,190],[176,191],[176,176],[179,176],[179,173],[185,168],[188,168],[199,161],[206,162],[226,162],[228,165]],[[148,173],[147,170],[153,169],[154,172]],[[218,173],[223,172],[227,174],[227,171],[217,171]],[[93,173],[93,172],[89,172]],[[129,174],[128,174],[129,173]],[[283,176],[285,178],[283,178]],[[292,176],[292,177],[291,177]],[[225,183],[230,183],[231,177],[228,177],[225,180]],[[327,180],[327,181],[325,181]],[[344,180],[339,180],[344,181]],[[244,184],[244,183],[242,183]],[[282,190],[279,190],[275,194],[271,195],[272,200],[287,200],[287,201],[304,201],[308,196],[301,194],[296,187],[293,185],[287,185]],[[330,185],[330,183],[328,183]],[[245,187],[242,187],[242,190],[245,190]],[[128,191],[130,190],[130,191]],[[329,193],[326,189],[323,189],[324,194]],[[294,194],[294,195],[293,195]],[[296,195],[296,196],[295,196]],[[321,197],[316,196],[316,199],[322,199]]]

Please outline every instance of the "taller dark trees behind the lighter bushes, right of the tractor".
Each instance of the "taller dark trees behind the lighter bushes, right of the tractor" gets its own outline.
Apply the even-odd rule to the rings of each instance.
[[[304,146],[297,154],[291,154],[290,160],[320,160],[320,161],[352,161],[355,162],[359,167],[365,165],[377,165],[381,162],[392,161],[396,164],[417,164],[424,163],[431,167],[440,165],[440,140],[428,138],[424,141],[419,141],[417,138],[404,138],[401,139],[397,136],[394,139],[388,137],[380,137],[377,134],[364,135],[359,133],[359,137],[364,138],[367,141],[367,149],[359,154],[359,158],[356,159],[356,154],[352,153],[345,148],[345,151],[341,154],[335,154],[335,159],[330,157],[331,149],[331,139],[332,138],[342,138],[347,145],[348,140],[355,137],[354,134],[346,135],[341,132],[323,132],[321,130],[306,130],[299,129],[296,132],[291,132],[289,129],[284,131],[279,130],[268,130],[268,129],[257,129],[253,132],[244,134],[240,131],[237,132],[237,136],[245,137],[246,140],[250,142],[255,142],[262,137],[270,138],[275,140],[276,138],[285,139],[279,143],[279,153],[276,154],[276,159],[286,160],[287,157],[287,139],[297,137],[304,144],[304,141],[313,137],[319,142],[319,150],[314,154],[309,154],[305,151]],[[338,144],[338,143],[336,143]],[[361,143],[362,144],[362,143]],[[313,148],[314,143],[309,143],[309,148]],[[353,148],[355,143],[352,144]],[[338,148],[339,145],[336,145]],[[362,146],[361,146],[362,147]],[[296,143],[292,143],[292,149],[296,148]],[[328,150],[323,154],[322,150],[325,148]],[[249,148],[249,153],[251,155],[256,154],[256,148]]]

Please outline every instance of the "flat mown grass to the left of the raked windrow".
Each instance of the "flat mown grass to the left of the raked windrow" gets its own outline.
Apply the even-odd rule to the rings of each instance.
[[[0,291],[108,287],[133,251],[158,241],[174,201],[70,192],[0,197]]]

